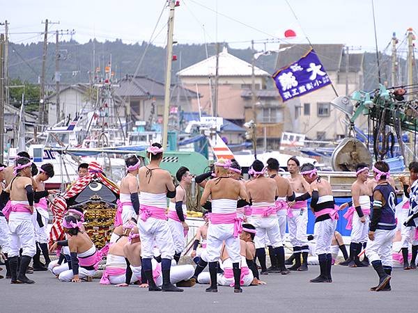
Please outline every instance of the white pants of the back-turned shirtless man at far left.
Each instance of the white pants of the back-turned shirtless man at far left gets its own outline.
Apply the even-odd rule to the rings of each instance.
[[[8,256],[19,256],[20,248],[22,248],[22,255],[33,257],[36,254],[36,243],[32,215],[29,213],[11,212],[8,227],[11,239]]]

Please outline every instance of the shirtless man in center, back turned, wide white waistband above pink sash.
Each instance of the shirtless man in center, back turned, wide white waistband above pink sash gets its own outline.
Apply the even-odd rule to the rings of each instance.
[[[238,238],[241,221],[237,217],[237,201],[239,198],[248,202],[248,195],[240,182],[228,175],[231,161],[219,159],[215,163],[216,178],[206,183],[201,197],[201,205],[212,198],[212,214],[208,227],[208,263],[210,287],[207,292],[217,292],[217,260],[221,255],[222,243],[231,257],[234,276],[234,292],[240,293],[240,239]]]

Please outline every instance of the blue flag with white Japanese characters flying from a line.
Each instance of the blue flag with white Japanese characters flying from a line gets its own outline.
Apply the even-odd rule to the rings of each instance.
[[[283,102],[331,83],[314,49],[309,50],[299,61],[275,72],[273,79]]]

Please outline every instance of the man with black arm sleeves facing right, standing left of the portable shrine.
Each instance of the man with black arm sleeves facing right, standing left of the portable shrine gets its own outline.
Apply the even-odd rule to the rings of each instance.
[[[33,255],[33,271],[47,271],[47,267],[51,260],[49,259],[48,252],[48,204],[45,197],[49,194],[45,191],[45,181],[54,177],[54,166],[51,163],[42,164],[39,169],[39,174],[34,178],[36,183],[35,196],[35,211],[32,215],[33,227],[35,227],[35,241],[36,241],[36,254]],[[51,191],[55,193],[56,191]],[[40,198],[41,197],[41,198]],[[45,259],[45,265],[40,262],[40,252]],[[46,267],[45,267],[46,266]]]

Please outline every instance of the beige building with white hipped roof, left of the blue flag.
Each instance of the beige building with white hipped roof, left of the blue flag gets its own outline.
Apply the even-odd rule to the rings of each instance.
[[[201,111],[212,115],[215,103],[216,63],[217,56],[210,56],[177,73],[183,86],[192,90],[197,88],[199,94],[203,95],[199,102],[197,99],[192,101],[192,111],[199,111],[200,103]],[[254,67],[254,79],[256,90],[265,89],[270,74]],[[224,47],[218,59],[217,115],[242,125],[245,122],[245,103],[241,94],[242,90],[251,88],[251,83],[251,64],[229,54],[228,49]]]

